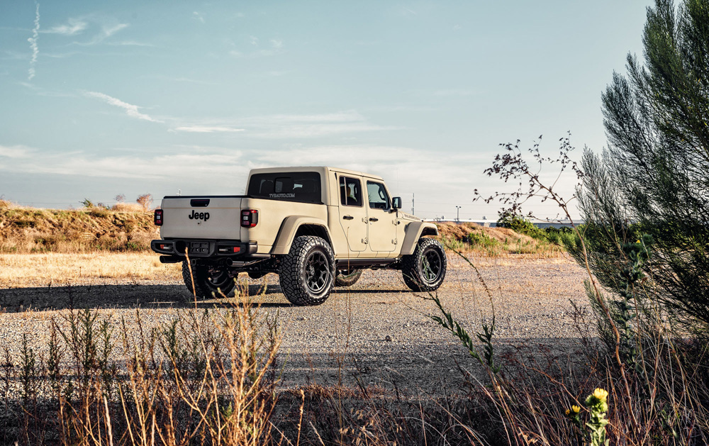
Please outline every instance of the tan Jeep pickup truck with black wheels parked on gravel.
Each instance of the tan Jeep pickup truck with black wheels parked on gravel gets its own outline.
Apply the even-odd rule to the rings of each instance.
[[[362,269],[399,269],[438,289],[447,260],[432,223],[401,211],[381,177],[333,167],[252,169],[243,196],[166,196],[155,210],[163,263],[182,262],[190,292],[228,294],[235,277],[279,275],[286,298],[319,305]]]

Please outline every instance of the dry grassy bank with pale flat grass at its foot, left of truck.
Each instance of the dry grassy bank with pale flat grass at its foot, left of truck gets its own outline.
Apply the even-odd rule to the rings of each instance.
[[[138,204],[42,209],[0,200],[0,288],[177,279],[150,252],[152,212]]]

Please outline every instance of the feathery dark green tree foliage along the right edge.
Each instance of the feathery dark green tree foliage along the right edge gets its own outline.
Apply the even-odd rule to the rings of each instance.
[[[622,295],[623,247],[651,235],[649,297],[709,324],[709,0],[647,9],[644,63],[627,57],[603,94],[608,149],[584,154],[579,207],[591,269]],[[581,252],[576,251],[577,258]]]

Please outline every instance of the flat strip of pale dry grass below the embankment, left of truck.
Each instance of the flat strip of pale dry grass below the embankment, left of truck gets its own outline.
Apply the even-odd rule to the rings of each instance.
[[[105,279],[174,281],[182,280],[182,273],[179,264],[162,264],[152,252],[0,255],[0,288],[86,285]]]

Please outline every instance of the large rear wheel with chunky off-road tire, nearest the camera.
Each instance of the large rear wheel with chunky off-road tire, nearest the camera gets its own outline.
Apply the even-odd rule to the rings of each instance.
[[[320,305],[335,284],[335,255],[323,238],[301,235],[281,260],[278,274],[283,294],[294,305]]]

